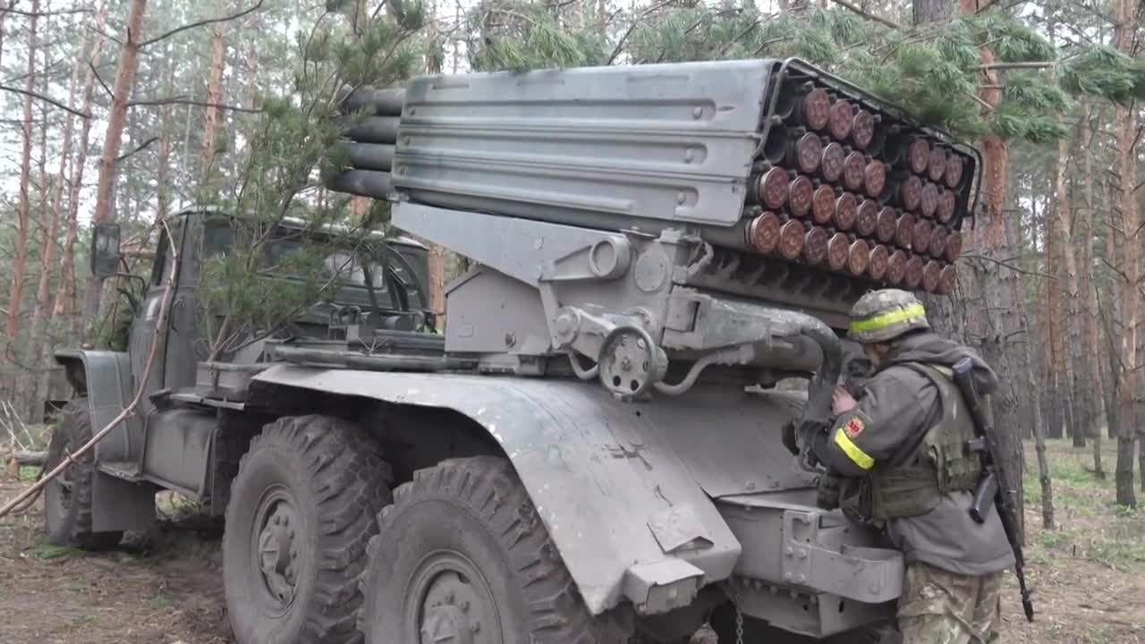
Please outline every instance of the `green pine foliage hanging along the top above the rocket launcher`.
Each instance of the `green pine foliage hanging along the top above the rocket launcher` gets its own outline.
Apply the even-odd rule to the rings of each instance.
[[[993,133],[1039,144],[1066,134],[1058,117],[1071,108],[1067,94],[1124,101],[1145,93],[1145,62],[1095,48],[1059,63],[1053,44],[1004,11],[890,29],[839,9],[763,15],[755,0],[721,0],[654,6],[626,18],[631,29],[613,34],[624,40],[608,44],[543,6],[485,0],[469,15],[472,62],[513,71],[602,64],[609,61],[601,53],[614,49],[623,54],[613,62],[637,64],[797,56],[958,138]],[[1001,86],[993,108],[978,97],[984,47],[1005,65],[993,70]]]

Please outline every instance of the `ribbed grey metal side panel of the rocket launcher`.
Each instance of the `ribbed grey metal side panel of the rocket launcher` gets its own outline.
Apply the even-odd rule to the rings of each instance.
[[[731,226],[775,61],[423,77],[394,184],[448,207]]]

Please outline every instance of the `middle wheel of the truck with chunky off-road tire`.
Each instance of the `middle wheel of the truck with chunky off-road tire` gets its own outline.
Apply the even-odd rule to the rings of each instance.
[[[251,440],[223,532],[239,644],[361,642],[357,580],[390,481],[377,445],[347,421],[279,418]]]

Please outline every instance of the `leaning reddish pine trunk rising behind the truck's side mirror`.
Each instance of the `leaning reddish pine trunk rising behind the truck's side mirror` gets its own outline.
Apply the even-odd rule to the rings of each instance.
[[[127,103],[131,101],[132,88],[135,85],[144,11],[147,11],[147,0],[131,0],[127,10],[127,34],[119,53],[119,69],[116,72],[116,85],[112,89],[111,113],[108,116],[108,133],[103,139],[103,155],[100,157],[100,181],[96,184],[95,207],[92,212],[94,223],[114,220],[111,199],[116,179],[116,157],[119,156],[119,144],[124,136],[124,121],[127,117]],[[90,335],[95,319],[100,314],[102,286],[98,277],[92,275],[87,278],[82,312],[86,335]]]

